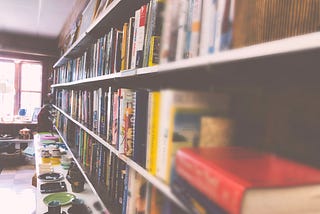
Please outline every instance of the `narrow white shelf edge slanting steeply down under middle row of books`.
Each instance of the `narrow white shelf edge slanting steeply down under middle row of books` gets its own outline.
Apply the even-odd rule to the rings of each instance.
[[[180,208],[185,210],[187,213],[189,212],[188,209],[177,199],[177,197],[171,192],[170,187],[166,184],[164,184],[162,181],[160,181],[155,176],[151,175],[149,172],[147,172],[144,168],[142,168],[140,165],[135,163],[133,160],[131,160],[129,157],[125,156],[124,154],[119,153],[119,151],[114,148],[112,145],[105,142],[101,137],[96,135],[94,132],[89,130],[87,127],[70,117],[70,115],[66,114],[63,110],[58,108],[57,106],[54,106],[58,111],[60,111],[65,117],[68,118],[68,120],[71,120],[73,123],[75,123],[78,127],[83,129],[85,132],[87,132],[91,137],[93,137],[95,140],[97,140],[99,143],[101,143],[103,146],[105,146],[107,149],[109,149],[112,153],[114,153],[119,159],[124,161],[127,165],[129,165],[132,169],[137,171],[139,174],[141,174],[147,181],[149,181],[153,186],[155,186],[158,190],[160,190],[165,196],[167,196],[169,199],[171,199],[174,203],[176,203]],[[62,137],[60,132],[58,132],[59,135]],[[65,142],[65,141],[64,141]],[[66,142],[65,142],[66,143]],[[70,149],[68,147],[68,149]],[[81,165],[77,163],[79,167]],[[83,172],[83,170],[82,170]],[[84,172],[83,172],[84,173]],[[87,178],[86,178],[87,179]],[[89,180],[89,179],[88,179]]]

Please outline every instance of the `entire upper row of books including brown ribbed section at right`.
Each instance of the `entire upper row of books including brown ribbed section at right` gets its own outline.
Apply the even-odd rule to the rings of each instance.
[[[54,83],[314,32],[319,21],[310,14],[316,15],[316,6],[316,0],[290,7],[276,1],[150,0],[121,29],[108,29],[81,56],[57,68]]]

